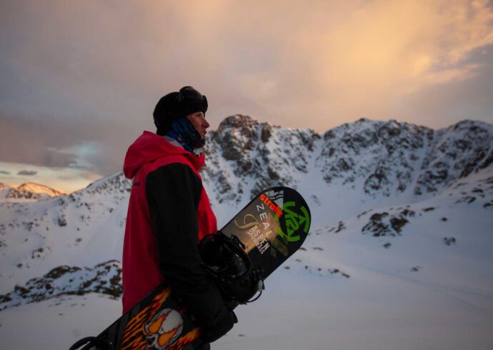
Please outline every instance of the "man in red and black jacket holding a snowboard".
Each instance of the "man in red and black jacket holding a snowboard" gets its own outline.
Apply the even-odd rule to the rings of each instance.
[[[236,322],[201,267],[197,243],[217,231],[199,169],[205,156],[206,96],[191,86],[163,96],[154,109],[156,134],[131,144],[124,174],[132,179],[123,253],[124,313],[162,281],[183,299],[206,342]],[[205,349],[208,349],[207,347]]]

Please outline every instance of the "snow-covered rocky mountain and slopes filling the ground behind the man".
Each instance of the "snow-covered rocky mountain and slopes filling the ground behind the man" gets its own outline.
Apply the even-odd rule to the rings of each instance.
[[[277,184],[312,209],[304,248],[267,281],[265,296],[239,309],[239,325],[217,349],[490,349],[493,125],[361,119],[321,135],[236,115],[207,135],[202,177],[219,226]],[[34,312],[67,330],[55,348],[116,319],[129,190],[119,173],[73,194],[0,202],[2,339],[19,336],[10,320]],[[266,330],[259,317],[282,322]],[[406,343],[409,329],[427,340]]]

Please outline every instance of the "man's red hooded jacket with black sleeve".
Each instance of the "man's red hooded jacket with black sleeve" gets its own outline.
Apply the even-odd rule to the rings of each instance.
[[[183,297],[199,321],[213,322],[225,306],[201,269],[196,244],[217,230],[198,171],[205,156],[144,131],[126,152],[132,179],[123,252],[124,313],[162,281]]]

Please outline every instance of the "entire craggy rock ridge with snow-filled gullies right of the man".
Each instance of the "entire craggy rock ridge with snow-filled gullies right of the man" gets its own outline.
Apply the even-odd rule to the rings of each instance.
[[[327,186],[361,183],[367,196],[434,194],[493,162],[493,126],[478,121],[435,131],[360,119],[321,136],[236,115],[209,137],[204,181],[219,203],[276,184],[296,187],[307,177]]]

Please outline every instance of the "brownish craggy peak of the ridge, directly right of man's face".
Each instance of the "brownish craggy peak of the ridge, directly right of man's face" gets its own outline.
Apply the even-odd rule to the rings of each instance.
[[[310,130],[289,130],[249,116],[229,116],[209,133],[204,180],[214,184],[219,203],[239,202],[277,184],[296,184],[307,174],[314,143]]]

